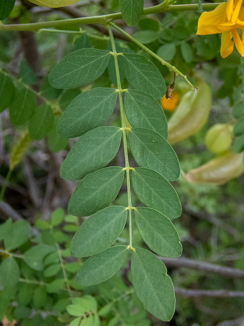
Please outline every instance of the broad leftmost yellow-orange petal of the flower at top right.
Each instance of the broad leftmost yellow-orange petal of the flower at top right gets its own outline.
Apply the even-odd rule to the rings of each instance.
[[[221,3],[210,12],[203,12],[198,19],[197,34],[209,35],[233,29],[233,23],[227,20],[226,2]]]

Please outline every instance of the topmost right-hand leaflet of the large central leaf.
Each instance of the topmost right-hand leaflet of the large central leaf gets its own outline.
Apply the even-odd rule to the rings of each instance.
[[[158,68],[141,54],[123,53],[123,69],[128,82],[156,99],[164,96],[166,85]]]

